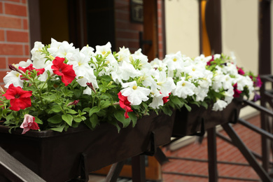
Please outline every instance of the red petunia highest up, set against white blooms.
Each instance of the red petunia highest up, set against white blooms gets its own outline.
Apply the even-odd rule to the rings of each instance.
[[[64,60],[65,59],[62,57],[55,57],[52,61],[53,65],[51,66],[51,69],[53,70],[53,73],[62,77],[62,83],[67,86],[76,77],[76,73],[73,70],[73,65],[65,64]]]

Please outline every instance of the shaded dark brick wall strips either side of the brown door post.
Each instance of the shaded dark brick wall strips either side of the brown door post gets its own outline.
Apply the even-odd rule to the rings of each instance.
[[[159,58],[162,59],[162,0],[158,0],[158,44]],[[115,1],[116,20],[116,50],[125,46],[133,53],[139,49],[139,31],[143,31],[143,25],[130,21],[130,1]]]

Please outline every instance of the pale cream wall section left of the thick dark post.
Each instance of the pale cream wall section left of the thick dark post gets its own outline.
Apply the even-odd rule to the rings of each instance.
[[[199,55],[199,15],[197,0],[165,1],[167,54]]]

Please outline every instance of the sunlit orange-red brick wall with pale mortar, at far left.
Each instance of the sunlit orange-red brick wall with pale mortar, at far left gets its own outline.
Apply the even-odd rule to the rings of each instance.
[[[0,1],[0,85],[8,64],[29,58],[29,27],[26,0]]]

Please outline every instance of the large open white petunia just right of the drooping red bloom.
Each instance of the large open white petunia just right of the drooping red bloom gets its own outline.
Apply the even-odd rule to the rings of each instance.
[[[123,96],[127,97],[131,105],[139,105],[141,102],[146,102],[149,98],[151,90],[146,87],[139,87],[136,81],[123,83],[123,90],[120,90]]]

